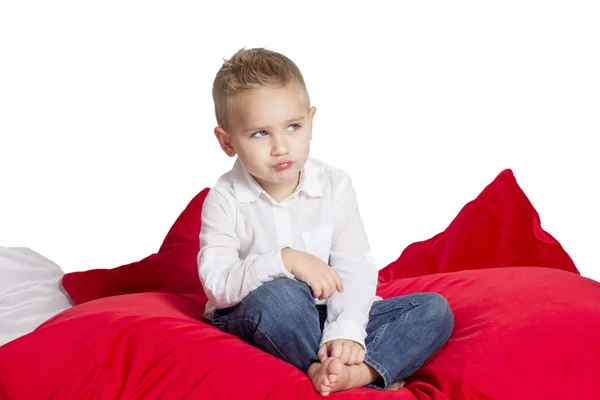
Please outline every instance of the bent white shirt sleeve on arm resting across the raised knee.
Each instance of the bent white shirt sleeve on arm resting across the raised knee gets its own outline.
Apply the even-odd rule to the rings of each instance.
[[[222,194],[211,190],[202,207],[198,272],[204,291],[216,308],[237,305],[267,281],[293,278],[281,258],[285,246],[240,259],[235,217],[234,206]]]

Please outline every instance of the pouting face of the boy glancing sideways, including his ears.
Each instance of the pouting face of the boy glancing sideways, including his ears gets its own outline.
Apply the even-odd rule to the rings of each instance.
[[[238,155],[248,172],[273,196],[293,191],[308,159],[315,107],[296,84],[261,87],[234,102],[227,131],[215,135],[227,155]]]

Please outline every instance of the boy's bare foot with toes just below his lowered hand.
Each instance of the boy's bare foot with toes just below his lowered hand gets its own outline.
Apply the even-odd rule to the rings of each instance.
[[[322,364],[314,363],[307,374],[321,396],[363,387],[380,378],[377,371],[365,363],[347,366],[336,357],[329,357]]]

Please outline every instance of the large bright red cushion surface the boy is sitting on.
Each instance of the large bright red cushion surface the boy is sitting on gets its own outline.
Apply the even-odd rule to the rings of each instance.
[[[455,314],[450,340],[398,392],[332,399],[592,399],[600,393],[600,284],[550,268],[430,274],[383,297],[433,291]],[[199,321],[164,293],[75,306],[0,347],[9,399],[318,399],[308,378]],[[402,349],[398,349],[402,351]]]

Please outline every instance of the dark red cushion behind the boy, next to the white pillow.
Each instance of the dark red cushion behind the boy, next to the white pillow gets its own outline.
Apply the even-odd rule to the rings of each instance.
[[[198,193],[177,218],[158,253],[113,269],[65,274],[62,285],[76,304],[128,293],[169,292],[206,296],[198,276],[197,256],[202,205],[208,194]]]

